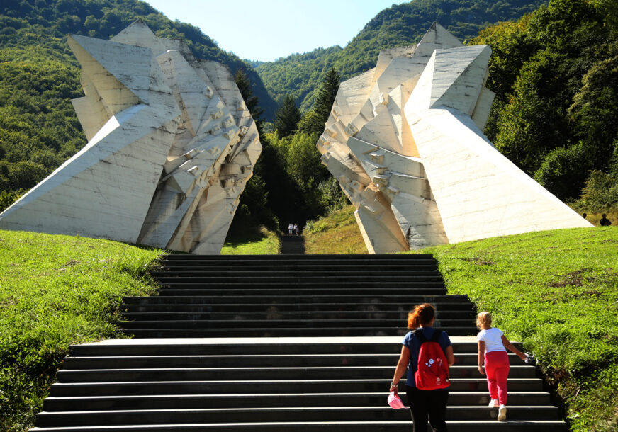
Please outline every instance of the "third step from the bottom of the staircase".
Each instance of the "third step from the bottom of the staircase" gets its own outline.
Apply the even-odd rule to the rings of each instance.
[[[408,406],[405,393],[400,394]],[[384,392],[282,394],[176,394],[101,397],[49,397],[44,411],[103,411],[120,409],[269,408],[269,407],[379,407]],[[449,404],[483,406],[488,392],[450,392]],[[549,405],[547,392],[510,392],[509,407]]]

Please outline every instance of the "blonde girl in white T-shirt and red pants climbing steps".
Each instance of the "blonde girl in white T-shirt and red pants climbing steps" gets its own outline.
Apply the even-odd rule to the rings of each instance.
[[[478,372],[481,375],[487,375],[487,387],[491,397],[489,407],[498,407],[498,421],[505,421],[507,418],[507,378],[510,368],[509,355],[505,347],[524,361],[527,356],[515,348],[500,329],[491,326],[491,314],[489,312],[478,314],[476,326],[481,330],[476,336]],[[485,360],[484,371],[483,360]]]

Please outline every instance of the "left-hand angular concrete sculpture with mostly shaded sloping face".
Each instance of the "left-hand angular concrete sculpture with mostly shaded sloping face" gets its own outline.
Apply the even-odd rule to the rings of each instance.
[[[135,21],[69,36],[89,142],[0,215],[1,229],[218,254],[262,146],[225,66]]]

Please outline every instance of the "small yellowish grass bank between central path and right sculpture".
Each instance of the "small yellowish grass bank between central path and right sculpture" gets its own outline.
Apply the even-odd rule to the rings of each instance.
[[[366,254],[354,205],[308,222],[303,230],[305,254]]]

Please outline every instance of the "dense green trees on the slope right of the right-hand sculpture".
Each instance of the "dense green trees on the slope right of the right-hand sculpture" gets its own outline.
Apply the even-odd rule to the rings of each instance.
[[[618,205],[618,3],[552,0],[481,31],[496,98],[485,129],[521,169],[580,211]]]

